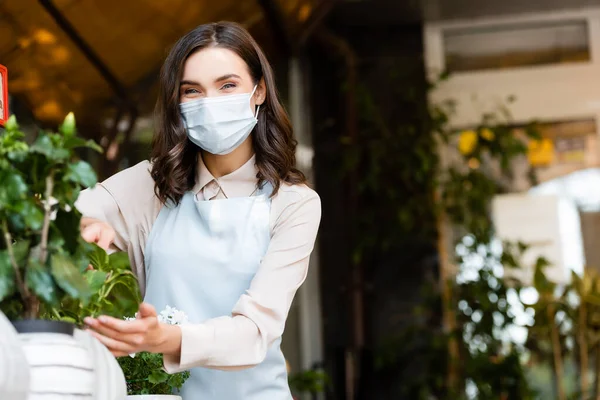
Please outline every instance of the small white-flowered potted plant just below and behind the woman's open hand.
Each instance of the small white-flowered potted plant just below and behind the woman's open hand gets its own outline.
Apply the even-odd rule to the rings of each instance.
[[[158,320],[170,325],[181,325],[187,323],[187,316],[183,311],[167,306],[158,315]],[[190,372],[167,374],[163,369],[162,354],[142,352],[120,357],[118,361],[125,374],[128,399],[181,400],[180,396],[173,393],[181,389],[190,377]]]

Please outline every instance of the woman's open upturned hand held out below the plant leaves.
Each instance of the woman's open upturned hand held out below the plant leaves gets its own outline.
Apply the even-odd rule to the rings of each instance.
[[[175,354],[181,348],[181,330],[175,325],[158,322],[156,309],[147,303],[140,305],[135,320],[126,321],[108,316],[84,319],[90,333],[102,342],[115,357],[148,351]]]

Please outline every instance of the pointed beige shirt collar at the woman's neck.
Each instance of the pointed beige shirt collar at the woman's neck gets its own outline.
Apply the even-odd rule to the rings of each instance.
[[[194,193],[198,193],[206,185],[215,181],[226,197],[248,197],[256,190],[258,184],[257,173],[256,156],[252,156],[237,170],[217,179],[206,168],[202,157],[198,156],[196,185],[193,190]]]

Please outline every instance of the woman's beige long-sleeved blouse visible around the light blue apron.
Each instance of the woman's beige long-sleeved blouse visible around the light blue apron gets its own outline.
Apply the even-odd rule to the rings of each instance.
[[[114,249],[129,253],[145,291],[146,241],[161,209],[145,161],[81,193],[77,208],[116,231]],[[198,164],[194,192],[199,200],[251,196],[256,190],[254,157],[233,173],[215,178]],[[181,326],[181,357],[165,357],[169,373],[192,367],[235,370],[259,364],[285,326],[292,300],[306,278],[319,222],[321,202],[305,185],[282,184],[271,204],[271,241],[267,254],[231,315]]]

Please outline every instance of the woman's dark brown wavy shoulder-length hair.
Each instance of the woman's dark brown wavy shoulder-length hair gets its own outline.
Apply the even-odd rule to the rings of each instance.
[[[172,201],[179,204],[185,192],[195,184],[200,149],[187,137],[179,112],[179,84],[188,57],[213,46],[229,49],[240,56],[246,62],[255,84],[264,78],[266,99],[252,131],[259,186],[265,182],[271,183],[274,196],[282,181],[305,183],[306,177],[296,168],[297,141],[290,119],[279,101],[267,58],[246,29],[233,22],[219,22],[200,25],[183,36],[163,64],[151,155],[156,196],[163,203]]]

